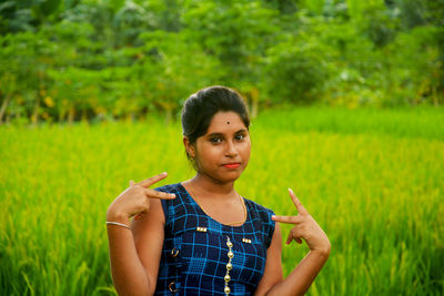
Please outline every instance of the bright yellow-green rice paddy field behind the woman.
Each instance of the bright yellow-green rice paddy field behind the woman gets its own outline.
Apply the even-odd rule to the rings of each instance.
[[[307,295],[444,295],[444,110],[301,108],[251,126],[236,190],[332,243]],[[130,180],[193,176],[180,123],[0,126],[0,294],[114,295],[105,212]],[[283,225],[283,238],[290,226]],[[284,273],[307,252],[284,246]]]

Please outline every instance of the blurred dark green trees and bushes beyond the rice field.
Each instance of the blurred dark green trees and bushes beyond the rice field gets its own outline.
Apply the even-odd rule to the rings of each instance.
[[[7,0],[0,123],[174,119],[224,84],[279,104],[444,103],[444,0]]]

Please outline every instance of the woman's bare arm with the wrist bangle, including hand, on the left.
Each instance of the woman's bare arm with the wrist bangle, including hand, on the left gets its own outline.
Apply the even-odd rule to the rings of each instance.
[[[159,198],[173,198],[147,187],[167,174],[131,184],[107,212],[107,221],[130,225],[131,229],[109,224],[111,274],[119,295],[152,295],[155,289],[165,223]]]

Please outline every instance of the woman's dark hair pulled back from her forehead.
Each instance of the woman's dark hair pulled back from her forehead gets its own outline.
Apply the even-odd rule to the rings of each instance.
[[[190,95],[183,104],[182,131],[190,143],[194,144],[199,136],[206,133],[213,115],[219,111],[238,113],[249,129],[250,116],[243,98],[225,86],[209,86]]]

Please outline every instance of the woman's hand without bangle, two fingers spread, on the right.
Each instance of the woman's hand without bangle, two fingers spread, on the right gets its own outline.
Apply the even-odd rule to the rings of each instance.
[[[329,237],[316,223],[316,221],[309,214],[302,203],[291,188],[289,188],[290,197],[292,198],[299,214],[296,216],[273,216],[275,222],[294,224],[295,226],[290,231],[285,244],[289,245],[293,239],[302,244],[302,239],[306,242],[311,251],[330,254],[331,244]]]

